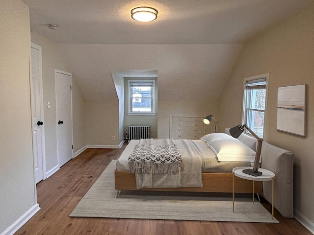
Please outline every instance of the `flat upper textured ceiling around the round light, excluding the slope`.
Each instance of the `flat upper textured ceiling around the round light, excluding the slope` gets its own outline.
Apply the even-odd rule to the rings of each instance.
[[[23,0],[31,30],[55,43],[243,43],[312,0]],[[154,22],[131,19],[131,9],[151,6]],[[48,24],[56,24],[51,30]]]

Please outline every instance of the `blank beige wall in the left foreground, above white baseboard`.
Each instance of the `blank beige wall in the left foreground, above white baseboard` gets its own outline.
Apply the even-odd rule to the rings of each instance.
[[[36,188],[30,114],[28,6],[20,0],[1,0],[0,15],[0,233],[2,233],[36,205]]]

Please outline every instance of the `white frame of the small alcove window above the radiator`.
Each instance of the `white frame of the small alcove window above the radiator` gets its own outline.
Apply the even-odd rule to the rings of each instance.
[[[151,112],[132,111],[132,83],[145,84],[152,83],[151,90]],[[142,98],[141,98],[142,99]],[[154,79],[129,79],[128,80],[128,116],[155,116],[156,115],[156,80]]]

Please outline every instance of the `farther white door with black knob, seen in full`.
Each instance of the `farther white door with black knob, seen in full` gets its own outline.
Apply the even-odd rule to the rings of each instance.
[[[55,70],[57,152],[59,167],[73,157],[72,149],[72,74]]]

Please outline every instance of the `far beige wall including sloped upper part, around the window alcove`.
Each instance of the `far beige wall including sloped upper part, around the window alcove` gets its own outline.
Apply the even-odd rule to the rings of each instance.
[[[205,117],[209,112],[219,121],[218,109],[211,107],[217,107],[217,94],[227,82],[242,49],[242,45],[60,44],[58,47],[76,72],[78,85],[88,100],[87,143],[101,145],[118,145],[120,140],[111,140],[118,130],[120,134],[120,129],[113,130],[112,126],[119,126],[121,115],[118,115],[122,114],[119,106],[122,102],[119,102],[111,71],[157,70],[158,126],[153,125],[156,119],[149,124],[154,126],[154,138],[159,135],[169,138],[171,114]],[[113,107],[110,102],[117,102],[117,106]],[[107,105],[112,106],[111,116],[106,113]],[[208,128],[210,130],[211,126]],[[93,136],[92,130],[98,134]]]

